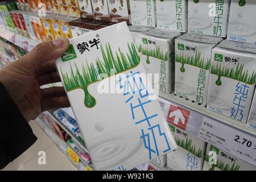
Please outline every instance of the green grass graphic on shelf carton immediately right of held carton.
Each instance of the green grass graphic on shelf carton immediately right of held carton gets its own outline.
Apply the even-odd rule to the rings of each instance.
[[[142,52],[143,55],[147,56],[146,63],[150,64],[149,56],[158,58],[163,61],[168,60],[168,53],[167,51],[163,51],[160,49],[160,46],[156,46],[154,49],[152,48],[144,48],[141,46],[141,44],[138,45],[138,51]]]

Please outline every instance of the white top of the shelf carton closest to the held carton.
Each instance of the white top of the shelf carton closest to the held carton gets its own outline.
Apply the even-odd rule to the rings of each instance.
[[[164,38],[164,39],[170,39],[170,38],[174,38],[174,37],[181,35],[180,32],[170,31],[170,30],[162,30],[160,28],[152,28],[151,30],[144,32],[144,34],[155,36],[158,38]]]

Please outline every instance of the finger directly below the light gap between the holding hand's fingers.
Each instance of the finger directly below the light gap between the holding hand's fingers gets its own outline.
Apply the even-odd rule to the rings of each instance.
[[[47,99],[52,97],[64,97],[67,96],[63,86],[53,86],[51,88],[41,89],[41,99]]]

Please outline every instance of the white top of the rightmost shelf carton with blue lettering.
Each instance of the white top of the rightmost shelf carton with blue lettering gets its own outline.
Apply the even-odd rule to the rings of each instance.
[[[230,40],[223,40],[217,47],[233,49],[238,52],[249,52],[256,54],[256,44],[233,42]]]

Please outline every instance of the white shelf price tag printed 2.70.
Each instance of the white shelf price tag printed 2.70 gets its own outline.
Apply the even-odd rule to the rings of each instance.
[[[256,138],[252,135],[205,117],[198,137],[256,166]]]

